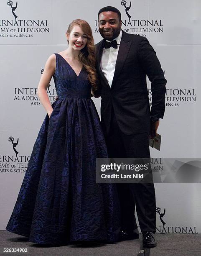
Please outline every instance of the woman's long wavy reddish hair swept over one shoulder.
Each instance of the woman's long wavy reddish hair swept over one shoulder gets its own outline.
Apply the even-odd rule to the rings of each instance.
[[[81,49],[78,58],[86,69],[89,77],[89,82],[92,84],[92,91],[97,90],[97,71],[96,71],[96,58],[95,58],[95,47],[94,38],[92,35],[92,29],[89,23],[85,20],[76,19],[73,20],[67,30],[67,33],[71,33],[74,26],[80,26],[81,30],[87,35],[87,44]]]

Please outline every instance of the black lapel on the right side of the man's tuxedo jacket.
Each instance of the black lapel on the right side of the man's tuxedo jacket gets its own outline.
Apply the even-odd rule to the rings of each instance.
[[[129,35],[127,33],[125,33],[124,31],[122,31],[122,39],[120,42],[120,49],[119,49],[118,55],[117,55],[117,61],[116,61],[116,65],[115,65],[114,77],[112,80],[111,88],[117,81],[117,78],[120,75],[120,72],[125,63],[125,60],[127,59],[127,55],[128,55],[128,52],[129,52],[129,49],[131,46],[131,42],[132,41],[129,39]]]

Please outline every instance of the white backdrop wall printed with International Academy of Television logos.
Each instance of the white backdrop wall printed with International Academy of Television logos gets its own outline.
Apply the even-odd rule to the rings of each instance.
[[[151,156],[201,156],[200,0],[1,0],[0,229],[10,218],[46,115],[36,94],[46,59],[66,49],[65,32],[76,18],[87,20],[95,43],[100,41],[97,13],[107,5],[122,13],[124,31],[148,38],[168,81],[165,116],[158,129],[161,150],[151,149]],[[53,80],[50,84],[53,102]],[[151,104],[150,82],[148,90]],[[100,99],[94,102],[99,112]],[[200,184],[155,184],[155,190],[157,232],[201,233]]]

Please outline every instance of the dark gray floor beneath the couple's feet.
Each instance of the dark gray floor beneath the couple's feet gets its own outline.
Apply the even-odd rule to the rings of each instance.
[[[23,236],[0,230],[0,255],[31,256],[201,256],[201,234],[155,234],[158,246],[143,250],[140,239],[92,246],[41,246]],[[28,252],[4,253],[3,248],[27,248]],[[142,251],[140,251],[140,249]]]

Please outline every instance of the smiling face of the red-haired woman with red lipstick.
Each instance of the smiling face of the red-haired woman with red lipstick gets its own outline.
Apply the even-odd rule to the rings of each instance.
[[[66,33],[69,47],[76,51],[80,51],[87,44],[87,35],[81,30],[80,26],[73,26],[71,33]]]

